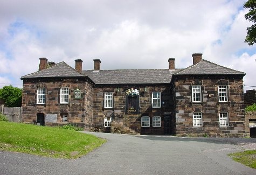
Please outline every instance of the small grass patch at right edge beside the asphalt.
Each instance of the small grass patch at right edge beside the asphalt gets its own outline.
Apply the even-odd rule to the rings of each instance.
[[[248,150],[229,154],[233,160],[256,169],[256,150]]]

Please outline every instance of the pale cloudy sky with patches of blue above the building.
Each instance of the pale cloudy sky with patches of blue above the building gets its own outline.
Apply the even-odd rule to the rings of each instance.
[[[244,43],[246,0],[0,0],[0,88],[22,87],[39,58],[74,68],[175,68],[192,54],[245,72],[244,92],[256,89],[256,44]]]

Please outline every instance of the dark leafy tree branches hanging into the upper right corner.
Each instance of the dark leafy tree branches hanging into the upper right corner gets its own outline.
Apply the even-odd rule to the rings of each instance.
[[[249,9],[249,12],[245,14],[245,19],[254,23],[251,27],[247,27],[245,43],[253,45],[256,43],[256,0],[248,0],[244,4],[244,8]]]

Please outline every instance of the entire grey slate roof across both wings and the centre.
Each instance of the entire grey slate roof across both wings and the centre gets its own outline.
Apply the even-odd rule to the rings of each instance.
[[[176,75],[245,75],[244,72],[236,71],[227,67],[214,64],[202,59],[197,64],[184,69],[115,69],[115,70],[86,70],[80,74],[67,65],[64,61],[34,72],[20,79],[26,78],[55,78],[55,77],[87,77],[96,85],[117,84],[155,84],[170,83],[172,76]]]

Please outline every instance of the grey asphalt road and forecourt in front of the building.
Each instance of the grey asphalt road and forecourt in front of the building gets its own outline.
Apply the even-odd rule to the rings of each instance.
[[[0,174],[256,174],[227,156],[255,138],[90,134],[108,142],[79,159],[0,151]]]

